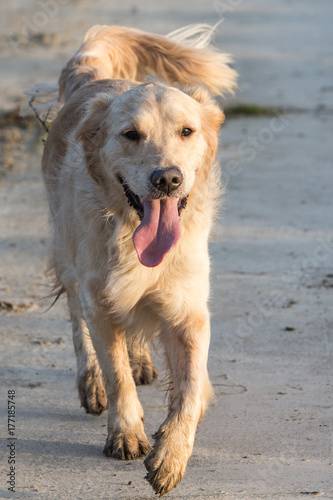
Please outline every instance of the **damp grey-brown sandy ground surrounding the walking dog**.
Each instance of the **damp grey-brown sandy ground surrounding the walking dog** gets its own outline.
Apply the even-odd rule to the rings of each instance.
[[[1,2],[2,112],[29,85],[56,81],[92,24],[167,33],[222,15],[216,44],[235,56],[242,90],[226,104],[285,111],[230,117],[222,130],[227,190],[211,244],[216,401],[169,497],[333,498],[332,2],[52,0],[47,14],[46,4]],[[0,125],[0,497],[152,499],[142,460],[105,458],[106,415],[79,407],[65,303],[45,312],[43,300],[41,141]],[[148,436],[166,413],[161,380],[138,391]],[[16,493],[6,483],[12,390]]]

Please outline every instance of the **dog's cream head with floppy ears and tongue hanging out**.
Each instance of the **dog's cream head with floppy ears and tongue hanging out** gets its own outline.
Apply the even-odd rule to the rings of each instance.
[[[136,86],[89,104],[78,139],[96,182],[121,192],[141,223],[133,235],[140,262],[157,266],[180,237],[179,217],[194,184],[214,161],[224,115],[202,89]],[[119,194],[119,193],[118,193]]]

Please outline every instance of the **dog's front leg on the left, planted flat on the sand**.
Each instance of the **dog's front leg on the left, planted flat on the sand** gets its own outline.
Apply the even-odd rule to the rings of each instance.
[[[143,409],[132,375],[125,331],[112,321],[107,308],[91,298],[82,299],[108,397],[108,437],[104,453],[122,460],[147,455],[151,446],[144,432]]]

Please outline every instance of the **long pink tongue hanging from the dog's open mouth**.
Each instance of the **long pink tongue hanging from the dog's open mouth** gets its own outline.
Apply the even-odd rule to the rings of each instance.
[[[180,238],[177,198],[144,200],[144,216],[133,234],[141,264],[158,266]]]

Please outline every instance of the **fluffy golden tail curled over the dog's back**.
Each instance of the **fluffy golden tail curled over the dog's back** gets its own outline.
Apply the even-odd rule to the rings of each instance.
[[[84,83],[105,78],[170,85],[206,86],[213,95],[233,93],[237,73],[230,55],[210,46],[214,27],[191,25],[167,37],[119,26],[94,26],[62,70],[59,100],[66,102]]]

